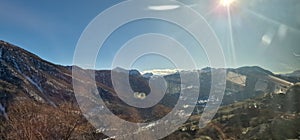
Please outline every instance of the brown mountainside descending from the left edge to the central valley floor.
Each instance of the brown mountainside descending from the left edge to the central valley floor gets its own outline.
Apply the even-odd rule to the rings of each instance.
[[[80,73],[80,77],[74,79],[76,82],[91,83],[92,70],[84,70],[76,66],[55,65],[24,49],[0,41],[0,104],[7,107],[9,102],[26,100],[28,102],[47,103],[54,107],[65,102],[77,105],[72,85],[72,68],[77,69]],[[106,106],[113,113],[129,118],[131,121],[142,121],[143,116],[146,118],[158,117],[151,115],[151,112],[159,106],[143,111],[132,108],[120,100],[112,88],[110,70],[94,72],[98,94],[106,101]],[[123,70],[118,74],[123,77],[127,74],[126,72]],[[133,90],[148,94],[150,90],[147,79],[136,70],[130,70],[128,73]],[[94,99],[88,96],[91,95],[89,86],[87,84],[87,87],[82,87],[82,94],[86,95],[87,102],[92,102]],[[159,108],[169,110],[166,107]],[[135,117],[130,118],[130,116]]]

